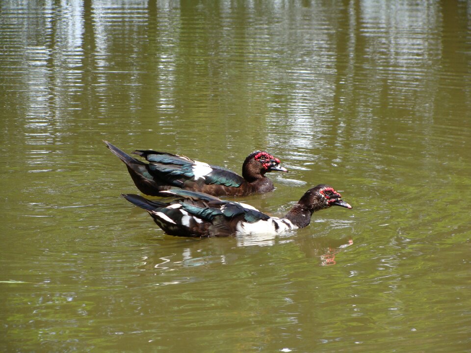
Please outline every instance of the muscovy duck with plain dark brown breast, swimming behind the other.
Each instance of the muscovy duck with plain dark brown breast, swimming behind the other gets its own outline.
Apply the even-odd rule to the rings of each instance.
[[[265,176],[271,171],[288,172],[280,160],[265,151],[253,151],[245,158],[242,176],[227,168],[212,166],[177,154],[151,150],[132,153],[144,157],[144,163],[104,141],[128,167],[137,188],[146,195],[160,196],[160,192],[179,187],[214,196],[246,196],[266,193],[275,187]]]

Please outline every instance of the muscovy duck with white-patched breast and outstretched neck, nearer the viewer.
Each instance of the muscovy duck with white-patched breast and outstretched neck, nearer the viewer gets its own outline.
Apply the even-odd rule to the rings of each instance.
[[[208,194],[172,189],[162,191],[171,202],[150,201],[142,196],[123,194],[129,202],[149,212],[157,226],[176,236],[213,237],[243,234],[282,234],[307,227],[311,216],[330,206],[351,209],[332,187],[320,184],[308,190],[283,218],[270,217],[239,202],[220,200]]]

